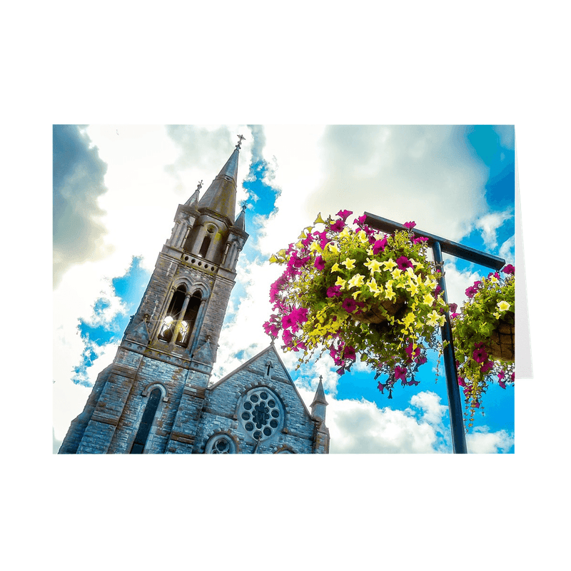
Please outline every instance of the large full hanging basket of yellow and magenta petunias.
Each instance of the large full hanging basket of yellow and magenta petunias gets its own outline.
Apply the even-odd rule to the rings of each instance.
[[[303,352],[300,363],[327,351],[339,375],[359,356],[377,377],[388,375],[378,388],[391,398],[398,380],[418,384],[415,373],[428,348],[439,347],[448,306],[414,222],[385,235],[365,216],[349,225],[351,214],[319,215],[297,243],[271,256],[285,271],[271,285],[273,314],[264,328],[273,338],[281,333],[284,350]]]

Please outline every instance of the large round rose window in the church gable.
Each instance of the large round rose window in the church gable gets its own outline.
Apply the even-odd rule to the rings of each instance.
[[[238,418],[253,440],[266,440],[283,426],[280,402],[267,388],[253,389],[246,393],[242,398]]]

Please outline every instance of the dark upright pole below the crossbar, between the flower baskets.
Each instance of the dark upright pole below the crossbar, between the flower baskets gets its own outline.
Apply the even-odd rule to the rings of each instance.
[[[448,303],[446,294],[446,283],[444,279],[444,267],[440,242],[433,242],[434,261],[440,269],[440,288],[443,290],[443,298]],[[456,373],[456,363],[454,354],[454,343],[452,339],[452,326],[450,325],[450,315],[446,312],[446,320],[441,328],[443,343],[444,370],[446,373],[446,388],[448,393],[448,411],[450,412],[450,431],[452,432],[452,446],[455,454],[467,454],[466,435],[464,433],[464,421],[462,415],[462,400],[460,399],[460,388],[458,387],[458,374]],[[447,343],[448,341],[448,343]]]

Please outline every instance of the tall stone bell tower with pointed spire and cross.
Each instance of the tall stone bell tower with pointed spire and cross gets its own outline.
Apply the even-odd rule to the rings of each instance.
[[[170,238],[113,363],[99,375],[60,454],[190,453],[238,256],[248,239],[235,218],[238,154],[178,206]]]

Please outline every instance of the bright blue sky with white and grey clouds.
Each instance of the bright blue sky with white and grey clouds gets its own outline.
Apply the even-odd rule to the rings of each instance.
[[[365,211],[515,263],[513,126],[54,126],[54,452],[83,409],[198,181],[206,188],[243,134],[238,201],[250,233],[223,327],[213,380],[266,348],[271,253],[317,213]],[[353,217],[352,217],[353,218]],[[352,219],[351,218],[351,219]],[[448,298],[487,268],[445,258]],[[421,383],[379,393],[363,366],[338,377],[328,357],[295,370],[309,405],[320,375],[331,453],[449,453],[436,358]],[[492,385],[467,436],[472,453],[515,450],[514,388]]]

